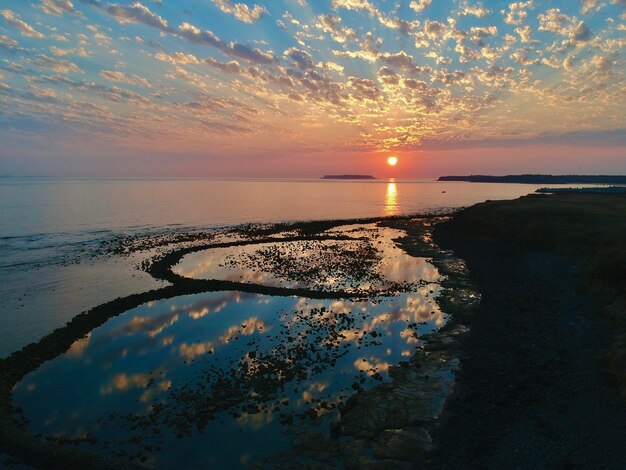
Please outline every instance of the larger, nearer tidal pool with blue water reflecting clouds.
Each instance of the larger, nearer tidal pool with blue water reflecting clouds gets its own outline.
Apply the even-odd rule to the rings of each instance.
[[[27,375],[14,400],[34,433],[68,445],[163,468],[245,466],[288,450],[291,426],[321,425],[386,380],[445,322],[438,289],[377,301],[212,292],[145,304]]]

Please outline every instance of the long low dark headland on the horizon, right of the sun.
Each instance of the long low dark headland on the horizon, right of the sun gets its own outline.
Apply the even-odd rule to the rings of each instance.
[[[470,175],[440,176],[438,181],[468,181],[470,183],[522,184],[626,184],[626,176],[619,175]]]

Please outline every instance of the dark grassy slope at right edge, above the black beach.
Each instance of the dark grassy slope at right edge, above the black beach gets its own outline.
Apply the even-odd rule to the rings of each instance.
[[[626,398],[626,195],[529,195],[464,209],[447,229],[470,236],[549,250],[582,262],[590,284],[606,297],[615,320],[607,368]]]

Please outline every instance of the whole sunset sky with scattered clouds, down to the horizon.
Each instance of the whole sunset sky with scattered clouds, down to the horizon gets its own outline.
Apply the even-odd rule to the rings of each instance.
[[[625,44],[626,0],[0,0],[0,175],[626,174]]]

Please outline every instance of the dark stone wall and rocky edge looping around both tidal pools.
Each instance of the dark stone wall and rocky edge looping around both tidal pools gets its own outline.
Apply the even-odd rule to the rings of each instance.
[[[417,217],[402,216],[389,218],[311,221],[306,223],[299,222],[295,224],[274,224],[256,227],[242,226],[239,230],[242,234],[245,234],[248,237],[248,240],[232,243],[209,242],[196,244],[175,248],[164,254],[157,255],[153,258],[154,262],[152,264],[144,266],[144,270],[149,272],[155,278],[166,280],[172,285],[143,293],[133,294],[123,298],[117,298],[94,307],[87,312],[83,312],[75,316],[66,324],[65,327],[53,331],[40,341],[31,343],[20,351],[11,354],[8,358],[0,360],[0,427],[2,429],[0,434],[0,449],[9,453],[12,457],[19,459],[19,461],[35,467],[138,467],[133,462],[119,461],[83,450],[64,448],[58,444],[33,436],[25,427],[25,423],[21,422],[19,417],[16,416],[16,413],[19,414],[20,410],[14,407],[12,401],[11,390],[14,385],[29,372],[37,369],[44,362],[63,354],[76,340],[81,339],[91,330],[104,324],[110,318],[153,300],[219,290],[237,290],[278,296],[296,295],[318,299],[356,299],[363,296],[375,297],[380,295],[381,293],[384,293],[384,291],[372,291],[366,293],[323,291],[315,289],[269,287],[233,281],[194,280],[183,278],[171,271],[172,266],[175,265],[185,254],[209,249],[211,247],[294,240],[342,240],[344,237],[328,237],[321,235],[321,232],[337,225],[377,222],[390,227],[406,229],[406,237],[402,239],[401,245],[405,248],[405,251],[409,252],[409,254],[413,256],[433,256],[433,264],[440,267],[441,273],[447,275],[448,277],[448,279],[442,282],[443,293],[439,298],[439,303],[440,305],[445,306],[444,308],[446,308],[447,311],[453,313],[452,320],[436,333],[429,335],[426,347],[417,350],[415,355],[406,363],[406,365],[395,365],[393,367],[393,372],[390,370],[389,373],[390,382],[385,382],[382,386],[374,387],[373,389],[370,389],[362,394],[355,394],[354,397],[359,397],[361,399],[355,398],[349,400],[346,404],[346,409],[341,412],[341,419],[338,423],[336,423],[337,425],[334,427],[333,433],[335,436],[338,434],[347,436],[346,439],[356,439],[354,442],[361,442],[359,433],[363,432],[365,432],[370,438],[383,438],[383,442],[385,442],[385,444],[380,444],[379,448],[387,450],[385,451],[386,453],[383,453],[384,455],[381,454],[382,456],[378,456],[378,458],[382,458],[383,460],[389,460],[389,458],[400,458],[401,460],[394,461],[403,462],[402,459],[414,460],[415,458],[418,458],[426,449],[430,447],[430,438],[424,438],[424,447],[417,449],[417,454],[415,454],[416,450],[412,450],[409,457],[403,453],[406,452],[406,439],[405,441],[398,442],[396,436],[395,442],[387,442],[385,439],[388,440],[388,436],[383,432],[389,426],[394,426],[393,422],[397,419],[397,416],[402,416],[404,414],[406,410],[403,406],[406,405],[406,403],[401,405],[399,410],[387,410],[383,411],[382,414],[379,414],[379,422],[376,426],[382,426],[382,428],[375,427],[374,429],[369,430],[361,428],[360,431],[355,431],[354,429],[356,428],[354,423],[360,421],[358,416],[362,415],[362,413],[369,413],[371,411],[369,407],[371,402],[386,402],[386,397],[394,396],[395,393],[398,393],[398,390],[405,389],[409,386],[413,388],[417,387],[416,390],[423,387],[425,383],[424,380],[427,381],[428,376],[426,375],[426,379],[424,379],[423,377],[416,376],[415,372],[411,371],[419,369],[434,371],[437,367],[440,367],[441,364],[448,362],[451,359],[451,354],[457,354],[455,348],[446,347],[446,345],[450,345],[455,342],[456,337],[465,332],[463,328],[459,329],[458,327],[462,326],[463,319],[465,318],[465,315],[462,313],[464,311],[471,310],[472,308],[472,303],[467,302],[467,298],[463,298],[463,295],[466,294],[466,289],[468,288],[469,283],[466,281],[466,275],[463,274],[463,266],[461,265],[459,268],[458,263],[449,263],[451,257],[450,253],[440,253],[441,256],[439,256],[437,255],[439,252],[433,245],[428,245],[428,243],[422,240],[423,231],[419,228],[423,229],[426,221],[430,221],[436,217],[439,216],[421,215]],[[424,223],[417,223],[416,219],[420,219],[424,221]],[[418,228],[417,231],[415,231],[416,227]],[[270,235],[271,233],[281,233],[285,231],[295,231],[298,235],[286,236],[282,238],[272,237]],[[459,279],[458,286],[455,284],[454,279]],[[460,288],[458,292],[455,291],[456,287]],[[458,295],[461,297],[457,297]],[[430,388],[433,390],[431,392],[431,396],[435,397],[439,388],[437,386]],[[433,398],[430,399],[432,400]],[[423,398],[421,400],[423,400]],[[418,403],[420,402],[418,401]],[[441,403],[441,405],[442,404],[443,403]],[[425,412],[422,411],[422,414],[419,415],[419,419],[413,422],[411,432],[408,432],[409,430],[407,430],[408,437],[415,435],[423,437],[424,435],[429,435],[429,431],[427,429],[432,425],[432,423],[428,424],[431,420],[426,419],[426,415],[424,413]],[[435,413],[437,413],[436,410]],[[354,418],[355,416],[357,418]],[[426,421],[423,421],[424,419],[426,419]],[[380,436],[378,436],[378,431],[380,431]],[[354,437],[350,437],[352,435],[354,435]],[[393,449],[394,446],[396,449],[395,454],[394,451],[388,451],[388,449]],[[337,448],[336,451],[337,453],[334,457],[347,458],[342,455],[343,449]],[[361,457],[357,456],[357,458]],[[404,460],[403,465],[408,465],[407,460]]]

